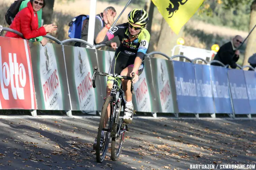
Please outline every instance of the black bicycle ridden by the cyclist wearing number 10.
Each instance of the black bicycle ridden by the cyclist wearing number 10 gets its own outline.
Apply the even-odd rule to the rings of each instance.
[[[110,138],[112,138],[111,141],[111,159],[113,161],[117,160],[124,141],[124,134],[127,131],[128,127],[127,124],[123,121],[124,112],[121,113],[122,106],[125,108],[125,100],[124,100],[124,91],[122,83],[121,85],[118,83],[118,79],[125,79],[125,80],[132,80],[134,77],[134,73],[132,73],[132,77],[129,76],[121,76],[118,74],[109,74],[105,72],[98,72],[98,68],[94,68],[93,76],[92,76],[92,84],[93,88],[96,87],[95,80],[96,75],[106,76],[106,77],[112,77],[114,78],[113,87],[111,89],[110,96],[107,96],[104,98],[105,102],[102,106],[101,110],[101,117],[100,117],[100,123],[98,128],[98,136],[97,136],[97,145],[96,145],[96,158],[98,163],[102,163],[106,152],[109,148],[109,141]],[[119,92],[119,94],[117,94]],[[131,83],[131,92],[133,93],[133,83]],[[104,119],[105,114],[108,112],[108,106],[110,105],[110,117],[109,117],[109,123],[106,123],[106,126],[108,125],[108,128],[103,128],[104,125]],[[108,113],[107,113],[108,114]],[[102,148],[100,147],[100,141],[101,141],[101,131],[106,131],[106,137],[104,138],[104,143],[102,145]],[[119,144],[116,140],[120,139]],[[116,149],[115,145],[118,144],[118,147]],[[102,153],[100,153],[102,149]]]

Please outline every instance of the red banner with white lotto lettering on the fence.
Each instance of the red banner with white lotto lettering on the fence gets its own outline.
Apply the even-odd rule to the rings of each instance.
[[[28,41],[0,37],[0,109],[37,109]]]

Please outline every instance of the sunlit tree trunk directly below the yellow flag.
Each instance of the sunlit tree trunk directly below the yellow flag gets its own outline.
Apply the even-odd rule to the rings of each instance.
[[[176,35],[172,31],[172,29],[169,27],[166,20],[162,18],[161,30],[160,30],[159,38],[157,41],[156,51],[162,52],[171,57],[171,54],[172,54],[171,50],[175,45],[177,45],[176,40],[177,38],[182,37],[182,34],[183,34],[183,28],[181,29],[179,35]],[[167,59],[166,57],[158,54],[155,54],[155,57]]]

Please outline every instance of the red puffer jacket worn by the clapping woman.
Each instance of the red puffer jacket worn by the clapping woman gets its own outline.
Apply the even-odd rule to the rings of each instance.
[[[38,28],[37,13],[34,14],[31,2],[28,2],[28,6],[18,12],[10,28],[22,33],[23,37],[26,39],[46,35],[44,27]],[[5,36],[13,38],[22,38],[17,34],[9,31],[5,34]]]

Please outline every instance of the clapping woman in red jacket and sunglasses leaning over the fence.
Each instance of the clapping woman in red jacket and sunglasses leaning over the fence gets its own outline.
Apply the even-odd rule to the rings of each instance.
[[[30,0],[28,6],[20,10],[15,16],[10,28],[23,34],[25,39],[44,36],[57,30],[53,24],[38,28],[37,12],[45,6],[45,0]],[[22,38],[19,35],[7,32],[6,37]]]

